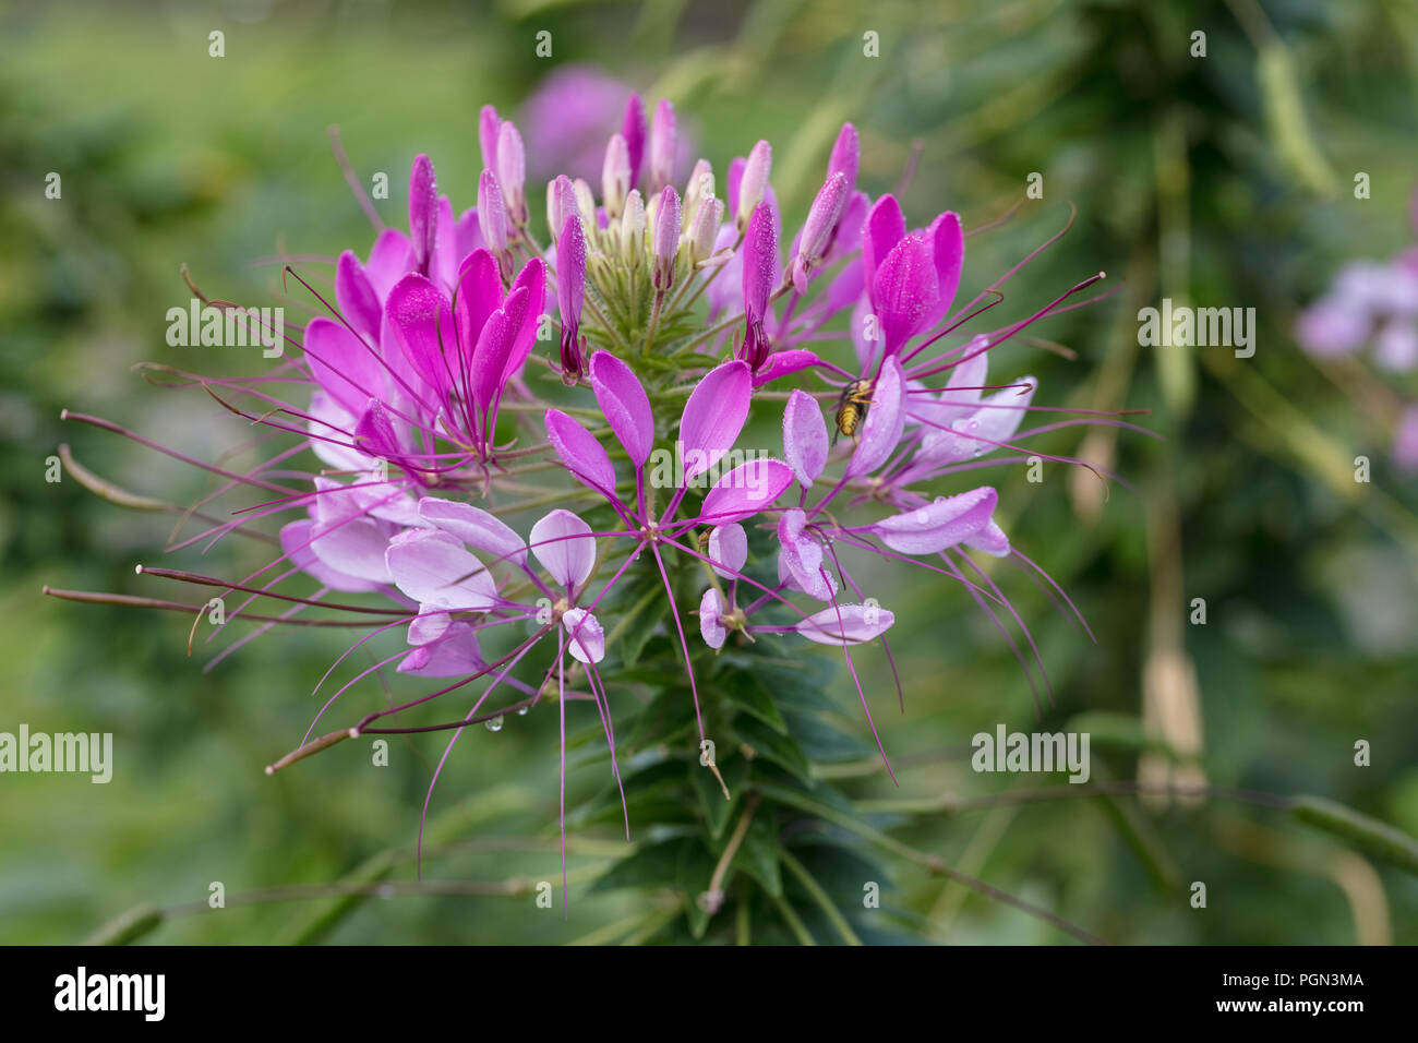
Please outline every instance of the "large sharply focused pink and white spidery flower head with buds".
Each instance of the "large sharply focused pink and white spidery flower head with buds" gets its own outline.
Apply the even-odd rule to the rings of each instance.
[[[1025,413],[1039,409],[1037,382],[991,385],[987,375],[993,348],[1079,307],[1065,301],[1102,275],[1034,315],[960,332],[1000,304],[1000,287],[1029,258],[959,305],[960,217],[947,211],[916,227],[895,196],[862,192],[849,123],[786,250],[770,143],[733,159],[722,180],[703,159],[681,177],[668,101],[647,116],[631,96],[600,186],[567,176],[546,184],[545,238],[533,230],[530,200],[540,193],[527,184],[518,126],[488,106],[478,133],[475,207],[457,213],[418,156],[407,230],[381,230],[363,258],[343,253],[333,302],[311,289],[328,314],[306,325],[299,358],[274,377],[201,380],[233,412],[296,436],[277,460],[308,447],[323,464],[296,487],[267,467],[208,465],[272,495],[189,543],[295,515],[279,528],[277,559],[221,583],[250,595],[223,627],[274,597],[291,607],[254,617],[264,629],[323,607],[367,613],[359,619],[369,634],[350,651],[401,634],[404,644],[320,715],[390,663],[457,678],[353,728],[308,732],[278,766],[346,735],[386,731],[450,729],[447,759],[468,725],[501,727],[503,712],[556,702],[564,816],[569,702],[594,704],[618,779],[603,670],[630,626],[674,641],[699,739],[695,663],[705,646],[834,646],[871,721],[852,650],[881,646],[895,674],[886,639],[895,616],[858,579],[871,558],[959,585],[1025,663],[1000,613],[1032,650],[1028,629],[967,552],[1012,558],[1052,580],[997,524],[995,488],[940,484],[988,453],[1003,450],[1001,464],[1028,458],[1020,441],[1035,434],[1122,423],[1095,414],[1021,431]],[[832,358],[835,345],[844,353]],[[292,383],[305,389],[295,400],[268,390]],[[257,407],[227,400],[241,396]],[[781,438],[746,451],[744,431],[764,416]],[[579,487],[536,484],[563,470]],[[301,576],[319,589],[286,593],[282,585]],[[608,610],[618,585],[637,576],[658,582],[658,607]],[[683,596],[686,578],[699,578],[698,602]],[[330,602],[330,592],[370,595],[383,607]],[[485,654],[495,643],[510,650]],[[523,663],[540,680],[519,677]],[[457,719],[389,727],[474,681],[485,684]],[[512,702],[498,705],[502,692]]]

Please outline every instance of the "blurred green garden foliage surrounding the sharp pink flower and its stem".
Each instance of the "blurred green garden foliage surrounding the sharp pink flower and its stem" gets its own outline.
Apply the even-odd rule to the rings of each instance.
[[[1028,315],[1099,270],[1105,285],[1122,282],[1032,331],[1073,358],[1027,342],[991,353],[997,379],[1041,377],[1041,404],[1147,409],[1140,421],[1163,436],[1069,429],[1041,441],[1136,487],[1113,484],[1106,500],[1061,465],[1041,484],[1022,468],[984,477],[1014,542],[1065,586],[1098,646],[1021,575],[995,570],[1054,683],[1056,707],[1038,725],[1017,663],[964,593],[883,573],[896,585],[882,597],[898,613],[908,712],[889,688],[873,708],[902,786],[871,759],[858,776],[839,766],[855,798],[892,810],[1058,782],[970,771],[970,736],[1005,722],[1092,728],[1095,779],[1314,793],[1418,833],[1418,484],[1387,463],[1392,417],[1371,404],[1415,389],[1317,366],[1290,336],[1296,309],[1346,260],[1384,260],[1414,240],[1412,4],[10,3],[0,27],[0,731],[111,731],[116,759],[106,786],[0,776],[0,941],[77,941],[140,904],[194,904],[149,938],[563,942],[652,900],[584,894],[620,851],[613,834],[586,832],[573,834],[570,924],[516,885],[364,901],[325,932],[330,907],[318,900],[208,912],[213,881],[234,904],[350,873],[411,880],[406,849],[442,741],[398,739],[377,769],[349,744],[267,778],[262,766],[305,732],[308,692],[346,647],[340,636],[265,636],[204,674],[211,651],[186,656],[182,614],[40,595],[48,583],[186,596],[133,575],[159,562],[172,518],[123,511],[68,477],[44,481],[68,443],[145,495],[186,504],[207,488],[176,461],[61,423],[64,407],[206,460],[251,437],[206,396],[130,370],[258,369],[166,345],[166,309],[190,297],[180,264],[213,297],[271,304],[278,267],[252,261],[363,254],[373,234],[332,159],[332,123],[362,176],[387,172],[377,207],[389,224],[404,223],[417,152],[455,207],[471,206],[478,108],[518,118],[532,152],[526,99],[573,65],[672,98],[695,155],[720,176],[729,158],[773,140],[790,227],[844,119],[861,131],[859,184],[873,197],[896,187],[919,142],[903,197],[915,224],[954,209],[971,228],[1022,199],[1012,220],[970,238],[961,299],[1075,203],[1072,230],[1011,280],[997,314]],[[213,30],[225,34],[223,58],[208,57]],[[1204,58],[1191,55],[1198,30]],[[552,58],[535,54],[539,31]],[[878,58],[862,53],[868,31]],[[618,121],[613,108],[604,133]],[[535,152],[529,163],[556,172]],[[44,193],[50,172],[62,177],[58,200]],[[1032,172],[1042,199],[1024,199]],[[1370,175],[1367,200],[1354,199],[1356,172]],[[535,214],[540,193],[529,190]],[[1139,348],[1137,308],[1161,297],[1255,307],[1255,358]],[[1354,481],[1356,456],[1371,458],[1371,482]],[[259,553],[228,541],[206,561],[162,563],[235,575]],[[1204,626],[1188,622],[1197,597]],[[869,741],[841,683],[845,719]],[[343,698],[349,714],[383,694],[366,683]],[[1140,756],[1144,732],[1184,761]],[[425,877],[556,880],[554,736],[554,714],[532,714],[462,739],[434,796],[447,843]],[[1354,765],[1358,739],[1370,766]],[[573,772],[570,796],[603,785],[598,766]],[[1418,941],[1412,876],[1229,800],[995,805],[913,816],[895,834],[1112,941]],[[883,917],[927,941],[1065,939],[892,864]],[[1190,905],[1191,881],[1207,884],[1205,910]]]

